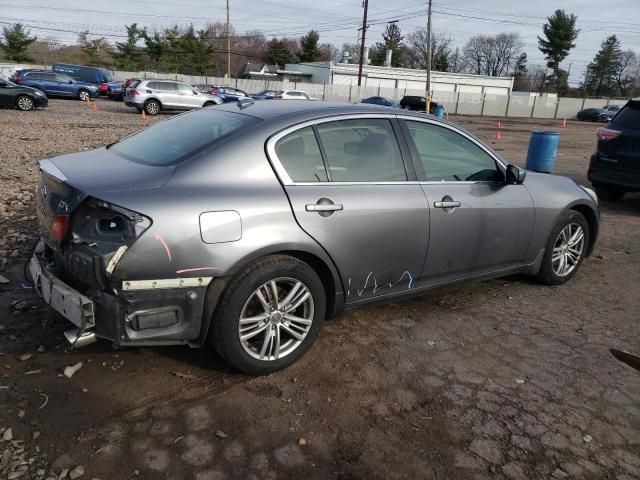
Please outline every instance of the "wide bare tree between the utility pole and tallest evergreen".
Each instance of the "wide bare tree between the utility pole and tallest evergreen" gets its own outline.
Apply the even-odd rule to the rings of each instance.
[[[470,73],[500,77],[513,71],[523,48],[520,34],[515,32],[476,35],[464,45],[462,55]]]

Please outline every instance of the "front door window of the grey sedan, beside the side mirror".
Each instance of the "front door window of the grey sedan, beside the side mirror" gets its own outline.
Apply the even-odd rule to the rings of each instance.
[[[430,182],[498,181],[501,173],[487,152],[465,136],[439,125],[406,121],[424,180]]]

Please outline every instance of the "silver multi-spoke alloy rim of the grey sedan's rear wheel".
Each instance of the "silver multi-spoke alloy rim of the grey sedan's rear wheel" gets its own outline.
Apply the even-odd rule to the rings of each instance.
[[[263,361],[286,357],[311,330],[314,301],[300,280],[282,277],[257,288],[244,304],[238,322],[240,344]]]

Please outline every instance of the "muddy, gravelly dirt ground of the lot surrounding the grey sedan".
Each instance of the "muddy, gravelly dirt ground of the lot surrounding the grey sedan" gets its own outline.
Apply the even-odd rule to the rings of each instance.
[[[640,354],[640,196],[602,205],[596,251],[565,286],[510,277],[342,315],[268,377],[208,350],[68,351],[67,322],[21,270],[36,160],[145,125],[98,105],[0,111],[2,477],[640,478],[640,372],[609,353]],[[495,119],[457,120],[494,138]],[[559,122],[503,121],[495,148],[522,164],[534,127]],[[586,183],[596,127],[560,130],[557,173]]]

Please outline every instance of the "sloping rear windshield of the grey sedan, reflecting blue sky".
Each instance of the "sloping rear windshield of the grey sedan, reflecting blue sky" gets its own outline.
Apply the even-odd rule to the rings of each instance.
[[[109,150],[136,163],[174,165],[257,122],[248,115],[206,108],[157,123],[114,143]]]

